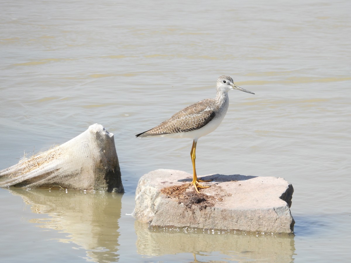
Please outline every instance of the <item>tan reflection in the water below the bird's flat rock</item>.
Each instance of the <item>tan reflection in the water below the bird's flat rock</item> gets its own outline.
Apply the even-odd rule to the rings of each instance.
[[[230,230],[157,228],[135,221],[137,252],[161,256],[178,253],[219,251],[234,261],[250,258],[264,262],[292,262],[295,251],[292,235],[261,235]],[[227,261],[226,261],[227,262]]]

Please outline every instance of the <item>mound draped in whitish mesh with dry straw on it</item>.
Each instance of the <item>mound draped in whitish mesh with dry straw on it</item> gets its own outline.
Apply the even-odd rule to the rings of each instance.
[[[0,171],[0,187],[7,186],[123,193],[113,134],[93,124],[72,140]]]

